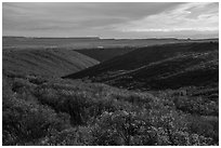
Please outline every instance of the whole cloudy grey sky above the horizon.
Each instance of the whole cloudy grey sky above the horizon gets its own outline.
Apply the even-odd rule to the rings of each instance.
[[[219,3],[3,2],[3,36],[217,38]]]

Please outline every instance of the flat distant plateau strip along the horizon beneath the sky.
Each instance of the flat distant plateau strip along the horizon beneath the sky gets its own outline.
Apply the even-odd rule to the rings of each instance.
[[[218,41],[218,39],[205,39]],[[39,48],[63,48],[68,50],[106,48],[141,48],[154,44],[192,42],[205,40],[190,40],[176,38],[151,38],[151,39],[100,39],[99,37],[86,38],[26,38],[26,37],[3,37],[3,49],[39,49]]]

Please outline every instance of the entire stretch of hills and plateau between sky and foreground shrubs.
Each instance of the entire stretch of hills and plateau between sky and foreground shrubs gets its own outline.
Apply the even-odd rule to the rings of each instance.
[[[6,46],[6,43],[10,44]],[[76,44],[83,43],[87,43],[89,49],[75,49]],[[117,48],[103,46],[108,43]],[[136,45],[139,43],[141,44]],[[63,44],[66,44],[66,48]],[[67,48],[72,44],[74,46]],[[2,69],[5,73],[89,78],[95,82],[127,89],[178,89],[217,82],[218,53],[218,39],[3,37]]]

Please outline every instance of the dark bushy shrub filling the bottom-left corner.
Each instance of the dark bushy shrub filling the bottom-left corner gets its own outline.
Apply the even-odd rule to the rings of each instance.
[[[68,126],[68,116],[56,115],[42,105],[34,105],[20,98],[8,98],[10,106],[3,108],[3,145],[35,143],[52,131]]]

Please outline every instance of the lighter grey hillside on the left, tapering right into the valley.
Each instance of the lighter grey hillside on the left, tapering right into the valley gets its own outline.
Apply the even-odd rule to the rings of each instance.
[[[3,50],[2,55],[2,69],[8,73],[60,77],[99,64],[91,57],[68,50]]]

